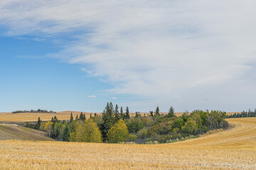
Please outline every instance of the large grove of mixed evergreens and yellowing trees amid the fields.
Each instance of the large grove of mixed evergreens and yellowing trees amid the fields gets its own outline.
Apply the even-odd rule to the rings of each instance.
[[[130,117],[129,108],[125,111],[118,105],[107,103],[102,115],[80,113],[70,120],[58,120],[55,116],[48,122],[40,118],[35,125],[26,123],[29,128],[47,132],[49,137],[69,142],[137,142],[137,143],[166,143],[183,140],[187,137],[196,137],[209,130],[228,128],[227,117],[222,111],[184,112],[176,117],[171,106],[166,115],[160,114],[159,107],[142,115],[139,112]]]

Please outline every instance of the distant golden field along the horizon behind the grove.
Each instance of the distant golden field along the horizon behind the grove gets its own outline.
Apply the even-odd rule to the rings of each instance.
[[[36,121],[38,120],[38,117],[41,118],[41,120],[51,120],[54,115],[57,116],[60,120],[69,120],[70,119],[70,113],[73,113],[73,117],[75,118],[76,115],[80,115],[80,111],[63,111],[63,112],[57,112],[57,113],[0,113],[0,121],[7,121],[7,122],[29,122],[29,121]],[[86,115],[86,118],[90,118],[90,113],[83,112]],[[233,114],[235,112],[227,113],[227,115]],[[140,113],[141,115],[144,115],[144,113]],[[167,114],[167,113],[161,113],[161,114]],[[182,115],[183,113],[175,113],[177,116]],[[94,115],[94,113],[92,113]],[[102,115],[102,113],[97,113],[97,115]],[[135,113],[130,113],[130,115],[133,117],[135,116]],[[150,113],[145,113],[145,115],[150,115]]]

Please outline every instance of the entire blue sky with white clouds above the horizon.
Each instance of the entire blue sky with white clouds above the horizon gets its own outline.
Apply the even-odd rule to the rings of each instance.
[[[256,1],[2,0],[0,112],[254,109]]]

